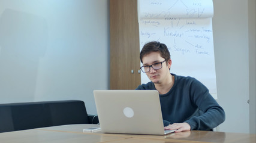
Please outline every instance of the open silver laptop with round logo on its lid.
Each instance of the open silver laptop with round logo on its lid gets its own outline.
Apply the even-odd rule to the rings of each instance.
[[[158,91],[95,90],[94,99],[101,131],[166,135]]]

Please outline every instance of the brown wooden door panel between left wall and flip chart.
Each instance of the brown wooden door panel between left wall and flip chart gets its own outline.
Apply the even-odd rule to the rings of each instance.
[[[140,85],[139,56],[137,0],[110,0],[110,89]]]

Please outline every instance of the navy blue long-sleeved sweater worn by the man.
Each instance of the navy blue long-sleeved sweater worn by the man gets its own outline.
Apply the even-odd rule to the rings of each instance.
[[[209,90],[193,77],[174,76],[167,94],[159,94],[164,126],[186,122],[191,130],[210,130],[224,122],[225,112]],[[138,86],[140,90],[156,90],[153,82]]]

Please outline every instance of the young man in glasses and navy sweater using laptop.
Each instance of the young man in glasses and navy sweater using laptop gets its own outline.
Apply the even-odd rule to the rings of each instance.
[[[224,122],[225,112],[206,86],[193,77],[170,73],[170,52],[164,43],[146,43],[140,61],[151,82],[137,89],[159,92],[165,130],[212,130]]]

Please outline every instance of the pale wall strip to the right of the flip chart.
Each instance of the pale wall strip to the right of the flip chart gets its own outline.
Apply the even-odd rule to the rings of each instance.
[[[249,133],[248,1],[215,0],[213,4],[218,102],[226,113],[218,130]]]

